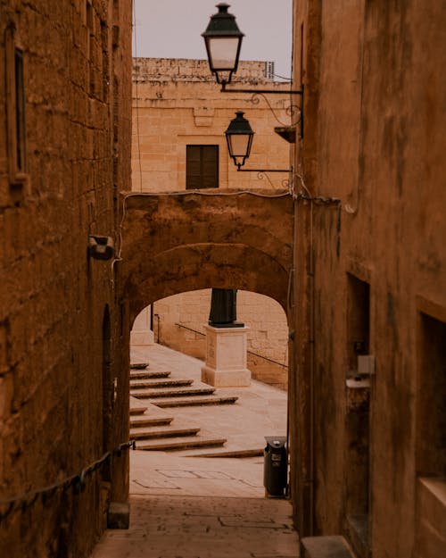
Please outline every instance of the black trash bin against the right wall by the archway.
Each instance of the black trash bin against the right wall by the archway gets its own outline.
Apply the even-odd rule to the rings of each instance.
[[[263,453],[265,458],[263,470],[263,486],[267,496],[285,497],[288,471],[286,456],[286,437],[267,436],[267,446]]]

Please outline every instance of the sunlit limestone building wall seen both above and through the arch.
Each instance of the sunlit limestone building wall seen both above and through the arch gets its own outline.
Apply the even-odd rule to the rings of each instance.
[[[284,84],[264,77],[264,62],[241,62],[236,79],[244,87],[283,89]],[[133,73],[133,145],[132,177],[136,191],[172,191],[186,188],[186,145],[213,144],[219,146],[219,187],[283,187],[286,173],[269,174],[259,178],[257,173],[237,173],[227,154],[224,131],[235,111],[243,109],[252,124],[255,136],[252,156],[246,168],[289,167],[289,145],[273,129],[278,126],[268,105],[260,96],[220,93],[219,86],[204,60],[137,58]],[[269,96],[277,116],[285,123],[289,116],[284,107],[286,96]],[[271,183],[268,181],[271,180]],[[184,293],[153,305],[156,314],[155,337],[172,348],[204,358],[204,338],[193,331],[176,326],[181,323],[202,332],[210,310],[210,292]],[[260,302],[255,302],[255,301]],[[246,301],[246,302],[244,302]],[[261,356],[286,364],[285,315],[277,304],[255,294],[239,296],[239,315],[250,314],[248,333],[250,349]],[[257,305],[257,316],[252,306]],[[268,316],[268,332],[262,316]],[[158,332],[158,323],[160,332]],[[285,341],[284,341],[285,340]],[[250,358],[254,378],[286,385],[287,369],[259,357]]]

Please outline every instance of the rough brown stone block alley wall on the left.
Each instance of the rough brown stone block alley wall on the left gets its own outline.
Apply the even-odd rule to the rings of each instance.
[[[87,242],[115,237],[113,194],[130,187],[130,37],[128,0],[0,0],[0,555],[10,558],[87,556],[108,501],[127,499],[127,452],[111,473],[88,471],[78,495],[63,481],[128,440],[117,353],[128,317],[111,262],[88,259]],[[20,174],[5,121],[15,47]]]

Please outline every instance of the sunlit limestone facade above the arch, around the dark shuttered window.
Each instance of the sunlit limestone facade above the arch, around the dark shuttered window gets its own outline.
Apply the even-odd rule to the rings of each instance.
[[[287,85],[262,77],[263,62],[241,62],[237,79],[244,87],[284,90]],[[277,98],[276,98],[277,97]],[[277,117],[289,122],[286,96],[269,97]],[[227,154],[225,130],[242,110],[255,136],[246,168],[289,166],[288,144],[273,129],[279,126],[261,96],[223,94],[203,60],[134,59],[132,189],[164,192],[186,187],[186,145],[219,146],[219,187],[271,187],[255,172],[237,173]],[[286,174],[269,175],[283,187]]]

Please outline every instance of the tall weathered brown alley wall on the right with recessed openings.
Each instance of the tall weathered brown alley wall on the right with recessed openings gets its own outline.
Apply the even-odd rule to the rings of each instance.
[[[301,535],[343,533],[359,556],[446,552],[445,15],[434,0],[294,6],[296,166],[342,209],[297,203],[293,498]],[[345,383],[359,340],[376,358],[362,400]]]

